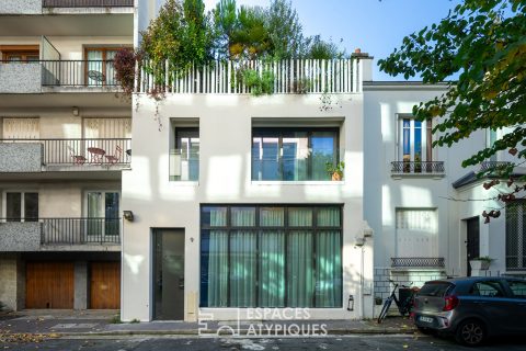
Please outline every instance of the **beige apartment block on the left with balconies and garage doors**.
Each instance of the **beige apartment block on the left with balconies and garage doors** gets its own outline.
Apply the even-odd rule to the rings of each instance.
[[[128,0],[0,3],[0,302],[118,308],[130,103],[112,57]]]

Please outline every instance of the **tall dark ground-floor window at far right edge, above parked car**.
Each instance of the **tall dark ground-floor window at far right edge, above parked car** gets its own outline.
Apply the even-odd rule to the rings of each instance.
[[[506,270],[526,270],[526,202],[506,205]]]

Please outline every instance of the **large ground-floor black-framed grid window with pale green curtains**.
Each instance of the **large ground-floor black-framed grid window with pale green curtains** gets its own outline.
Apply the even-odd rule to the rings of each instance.
[[[342,307],[340,206],[203,206],[202,307]]]

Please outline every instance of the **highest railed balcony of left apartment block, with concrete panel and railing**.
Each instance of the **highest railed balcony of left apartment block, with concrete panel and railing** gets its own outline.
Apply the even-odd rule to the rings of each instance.
[[[112,92],[112,60],[0,61],[0,93]]]

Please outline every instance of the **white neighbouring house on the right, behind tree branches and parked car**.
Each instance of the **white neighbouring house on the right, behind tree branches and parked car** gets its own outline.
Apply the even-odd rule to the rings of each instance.
[[[442,95],[446,87],[364,83],[364,213],[375,233],[378,297],[390,294],[389,279],[420,286],[445,276],[526,273],[523,203],[506,212],[492,200],[498,192],[482,186],[488,179],[477,179],[480,167],[461,168],[505,131],[479,131],[451,148],[432,148],[432,122],[412,116],[413,105]],[[513,157],[501,151],[482,167],[505,161]],[[501,208],[501,216],[484,224],[483,211],[493,208]],[[471,271],[469,260],[484,256],[494,259],[490,270]]]

